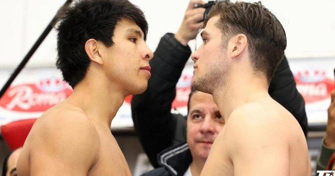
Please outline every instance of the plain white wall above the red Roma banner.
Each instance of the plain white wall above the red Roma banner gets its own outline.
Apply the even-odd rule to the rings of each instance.
[[[0,0],[0,68],[13,68],[66,0]],[[148,46],[154,51],[162,35],[175,33],[188,0],[131,0],[149,23]],[[252,0],[254,1],[254,0]],[[263,0],[283,24],[288,58],[335,56],[335,0]],[[56,32],[42,43],[28,67],[54,66]],[[198,43],[200,44],[200,39]],[[198,44],[198,46],[199,46]],[[194,42],[191,42],[194,50]]]

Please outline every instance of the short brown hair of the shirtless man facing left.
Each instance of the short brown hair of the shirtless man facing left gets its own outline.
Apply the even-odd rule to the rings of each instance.
[[[216,15],[220,15],[216,26],[223,32],[224,47],[233,35],[246,35],[254,70],[263,72],[270,82],[286,48],[285,31],[278,19],[261,2],[219,2],[208,19]]]

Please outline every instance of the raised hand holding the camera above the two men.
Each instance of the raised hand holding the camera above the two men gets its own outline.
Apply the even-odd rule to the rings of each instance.
[[[194,4],[205,4],[202,0],[190,0],[189,6],[185,12],[184,20],[175,34],[175,38],[184,46],[187,46],[187,43],[196,38],[199,29],[203,26],[203,13],[205,12],[204,8],[194,8]]]

